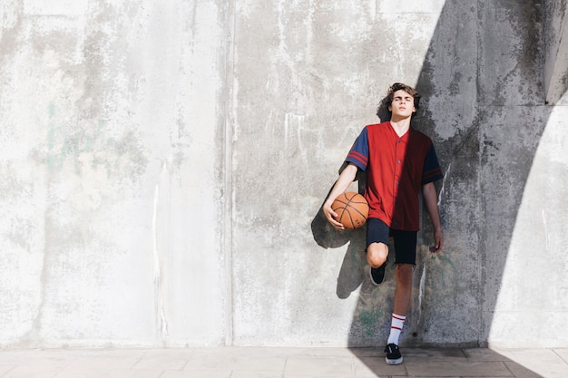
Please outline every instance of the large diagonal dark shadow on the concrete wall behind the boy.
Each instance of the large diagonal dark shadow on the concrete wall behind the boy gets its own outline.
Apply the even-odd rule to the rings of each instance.
[[[446,243],[440,255],[429,253],[432,232],[423,211],[402,346],[487,346],[524,186],[552,111],[544,106],[540,17],[526,0],[485,7],[458,0],[442,9],[416,83],[426,111],[413,125],[432,138],[445,171],[437,189]],[[348,344],[382,349],[394,267],[381,286],[372,286],[365,231],[340,234],[325,223],[320,209],[312,233],[321,247],[349,243],[338,297],[359,289]],[[374,360],[360,360],[378,376],[367,363]]]

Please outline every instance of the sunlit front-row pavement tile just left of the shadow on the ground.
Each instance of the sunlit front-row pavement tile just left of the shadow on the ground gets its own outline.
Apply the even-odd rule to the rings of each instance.
[[[351,377],[352,357],[290,357],[284,369],[284,376]]]

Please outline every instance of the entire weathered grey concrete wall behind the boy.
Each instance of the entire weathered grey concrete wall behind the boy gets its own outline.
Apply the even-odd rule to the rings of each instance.
[[[3,3],[0,345],[384,344],[393,268],[370,286],[364,231],[319,208],[401,81],[446,172],[446,248],[426,217],[402,343],[566,346],[568,110],[544,105],[543,14]]]

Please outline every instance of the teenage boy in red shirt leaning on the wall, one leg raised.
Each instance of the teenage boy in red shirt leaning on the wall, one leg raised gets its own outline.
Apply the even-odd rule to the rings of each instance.
[[[323,206],[329,223],[334,228],[344,229],[336,220],[337,214],[331,204],[348,189],[356,178],[357,170],[367,172],[367,262],[370,266],[370,280],[374,285],[379,285],[385,277],[389,235],[393,237],[396,255],[397,289],[385,348],[388,364],[402,363],[403,360],[398,339],[410,304],[413,269],[416,265],[420,189],[434,226],[435,245],[430,247],[430,251],[439,252],[443,246],[434,186],[437,179],[443,178],[442,170],[430,138],[410,125],[419,102],[420,95],[414,88],[398,82],[390,86],[384,102],[391,116],[390,121],[367,125],[361,131],[348,153],[347,167],[339,174],[338,181]]]

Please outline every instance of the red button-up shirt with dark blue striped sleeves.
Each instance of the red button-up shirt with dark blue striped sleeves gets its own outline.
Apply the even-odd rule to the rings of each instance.
[[[346,161],[367,172],[369,218],[394,229],[420,228],[420,189],[444,177],[430,138],[412,128],[399,137],[389,121],[367,125]]]

